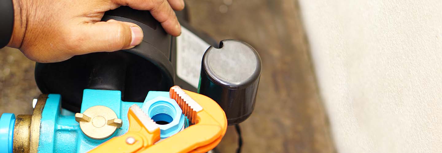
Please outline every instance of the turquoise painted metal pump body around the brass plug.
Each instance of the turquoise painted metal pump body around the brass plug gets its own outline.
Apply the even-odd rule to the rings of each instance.
[[[169,97],[169,92],[149,91],[145,102],[156,97]],[[74,114],[69,111],[63,111],[62,113],[60,104],[61,96],[59,94],[48,95],[42,111],[39,153],[85,153],[110,138],[126,133],[129,128],[127,119],[129,107],[133,104],[142,107],[144,103],[122,101],[120,91],[84,90],[81,112],[95,105],[103,105],[112,109],[118,118],[123,121],[121,128],[117,129],[112,136],[103,140],[91,139],[84,135],[79,123],[75,121]]]

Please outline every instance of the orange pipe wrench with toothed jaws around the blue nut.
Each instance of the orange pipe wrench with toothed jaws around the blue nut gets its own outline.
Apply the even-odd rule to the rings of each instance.
[[[130,124],[127,133],[104,142],[90,153],[205,153],[215,148],[227,130],[222,108],[209,97],[179,86],[171,87],[169,95],[194,125],[155,144],[160,140],[160,128],[133,105],[127,114]]]

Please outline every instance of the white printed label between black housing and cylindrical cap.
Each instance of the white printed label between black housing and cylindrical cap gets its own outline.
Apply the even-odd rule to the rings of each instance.
[[[198,88],[202,56],[209,47],[206,41],[184,27],[176,37],[176,74],[195,88]]]

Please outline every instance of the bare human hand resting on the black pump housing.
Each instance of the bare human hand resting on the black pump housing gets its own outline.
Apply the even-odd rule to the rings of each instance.
[[[13,0],[14,30],[8,46],[20,49],[30,60],[60,62],[91,52],[113,52],[140,44],[143,32],[130,22],[100,22],[105,11],[120,6],[150,10],[173,36],[181,26],[172,10],[183,0]]]

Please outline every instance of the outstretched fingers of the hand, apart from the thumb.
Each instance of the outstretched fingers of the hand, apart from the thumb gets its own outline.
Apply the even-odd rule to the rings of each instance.
[[[149,10],[168,34],[173,36],[181,34],[181,25],[179,25],[172,7],[176,10],[183,9],[183,0],[113,0],[112,2],[137,10]]]

